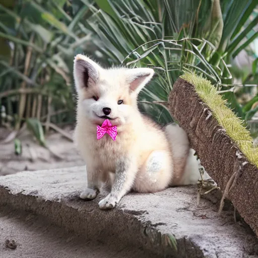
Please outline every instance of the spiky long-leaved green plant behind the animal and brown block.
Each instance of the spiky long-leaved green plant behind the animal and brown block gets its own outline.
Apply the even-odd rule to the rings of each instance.
[[[164,102],[186,69],[211,80],[244,119],[228,67],[257,37],[255,0],[95,0],[98,8],[82,2],[93,13],[89,25],[98,35],[95,42],[103,42],[98,44],[103,55],[127,66],[156,70],[156,80],[140,99],[141,108],[156,120],[171,120]]]

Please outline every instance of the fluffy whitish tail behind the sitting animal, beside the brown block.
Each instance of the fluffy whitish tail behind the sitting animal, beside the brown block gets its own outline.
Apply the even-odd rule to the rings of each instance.
[[[195,150],[190,149],[186,132],[176,123],[165,127],[168,140],[171,143],[173,158],[172,185],[196,184],[201,179],[200,163],[195,156]],[[209,178],[204,170],[203,179]]]

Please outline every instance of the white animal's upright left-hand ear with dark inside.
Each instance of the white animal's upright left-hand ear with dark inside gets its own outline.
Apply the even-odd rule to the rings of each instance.
[[[78,54],[74,60],[74,79],[77,91],[97,83],[101,67],[85,55]]]

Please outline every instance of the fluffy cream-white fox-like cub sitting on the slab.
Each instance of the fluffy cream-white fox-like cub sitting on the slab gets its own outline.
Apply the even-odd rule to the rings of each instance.
[[[94,199],[104,186],[100,209],[112,209],[130,191],[156,192],[195,184],[198,162],[186,133],[177,124],[161,128],[140,113],[137,96],[152,79],[150,68],[103,69],[85,55],[74,61],[78,93],[75,143],[86,162],[87,187],[82,199]],[[97,140],[96,128],[108,119],[117,126],[116,140]]]

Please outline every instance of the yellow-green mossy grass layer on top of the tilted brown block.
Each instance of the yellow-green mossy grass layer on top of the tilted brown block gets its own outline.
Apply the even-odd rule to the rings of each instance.
[[[250,132],[244,127],[243,121],[225,105],[225,100],[217,93],[211,82],[188,72],[181,78],[195,86],[200,98],[210,107],[219,124],[225,128],[226,134],[246,158],[258,167],[258,148],[253,147]]]

